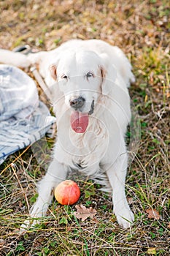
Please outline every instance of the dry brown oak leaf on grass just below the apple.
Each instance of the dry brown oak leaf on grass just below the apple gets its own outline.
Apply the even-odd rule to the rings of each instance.
[[[84,222],[85,219],[88,219],[88,217],[91,218],[91,217],[95,216],[97,213],[97,211],[95,209],[93,209],[92,207],[86,208],[82,204],[80,206],[75,206],[75,208],[77,209],[77,211],[74,212],[74,216],[77,219],[82,219],[82,222]]]

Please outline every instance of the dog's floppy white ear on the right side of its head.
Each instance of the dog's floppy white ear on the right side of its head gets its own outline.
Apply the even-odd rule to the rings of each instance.
[[[110,63],[108,56],[105,53],[101,55],[102,64],[100,66],[101,71],[101,92],[102,94],[109,94],[112,90],[113,83],[116,78],[116,69]]]

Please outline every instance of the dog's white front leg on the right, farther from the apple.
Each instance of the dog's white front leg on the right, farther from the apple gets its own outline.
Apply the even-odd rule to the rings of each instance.
[[[112,187],[113,211],[117,222],[123,228],[128,228],[134,221],[134,214],[128,206],[125,197],[125,176],[127,170],[127,156],[123,154],[110,165],[107,176]]]

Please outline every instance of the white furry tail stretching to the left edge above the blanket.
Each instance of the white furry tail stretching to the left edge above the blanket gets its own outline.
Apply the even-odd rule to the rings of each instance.
[[[22,53],[0,49],[0,63],[13,65],[15,67],[29,67],[31,61]]]

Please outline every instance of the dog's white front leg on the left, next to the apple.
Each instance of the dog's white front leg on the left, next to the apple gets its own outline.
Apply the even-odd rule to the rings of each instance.
[[[51,162],[47,173],[44,178],[38,184],[38,193],[39,196],[34,203],[34,206],[31,208],[31,218],[34,218],[34,221],[26,220],[21,226],[21,231],[28,229],[28,227],[34,226],[38,223],[36,218],[45,216],[47,208],[53,199],[53,188],[56,187],[61,181],[66,179],[67,167],[59,163],[56,159],[53,159]]]

